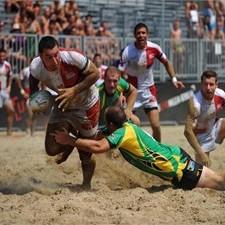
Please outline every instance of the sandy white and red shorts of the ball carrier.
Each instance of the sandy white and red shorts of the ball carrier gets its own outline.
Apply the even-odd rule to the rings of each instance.
[[[50,115],[49,123],[67,121],[82,137],[92,137],[97,134],[100,104],[97,101],[88,110],[71,109],[62,112],[55,107]]]

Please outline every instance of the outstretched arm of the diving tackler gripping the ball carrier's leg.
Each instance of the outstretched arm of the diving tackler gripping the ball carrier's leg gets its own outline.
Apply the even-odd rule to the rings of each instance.
[[[71,145],[80,150],[91,153],[103,153],[110,150],[110,144],[106,138],[101,140],[83,139],[71,136],[67,130],[55,131],[51,134],[59,144]]]

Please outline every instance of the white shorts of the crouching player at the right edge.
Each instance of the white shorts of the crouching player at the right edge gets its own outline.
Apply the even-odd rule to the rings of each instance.
[[[223,140],[218,137],[222,121],[223,118],[218,119],[210,132],[196,135],[204,152],[211,152],[216,149],[217,144],[222,143]]]

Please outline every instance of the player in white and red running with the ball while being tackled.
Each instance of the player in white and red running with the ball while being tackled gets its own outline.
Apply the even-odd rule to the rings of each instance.
[[[65,161],[73,148],[55,142],[55,130],[66,129],[84,138],[94,138],[99,120],[99,96],[95,82],[99,78],[96,66],[77,50],[61,49],[56,39],[43,37],[39,56],[30,64],[31,94],[39,82],[58,96],[47,126],[45,148],[50,156],[59,155],[57,163]],[[90,188],[95,169],[91,154],[79,151],[83,171],[83,187]]]

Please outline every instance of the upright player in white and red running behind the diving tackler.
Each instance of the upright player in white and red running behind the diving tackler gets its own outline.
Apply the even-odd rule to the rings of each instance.
[[[134,109],[144,107],[151,123],[153,137],[161,141],[159,109],[156,99],[157,89],[152,71],[154,59],[156,58],[163,63],[176,88],[183,88],[184,85],[177,80],[173,65],[160,46],[147,40],[148,35],[149,30],[145,24],[139,23],[135,26],[134,36],[136,40],[124,49],[119,68],[127,74],[128,81],[138,89]]]

